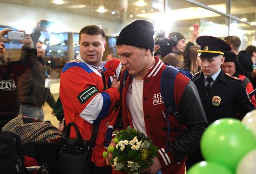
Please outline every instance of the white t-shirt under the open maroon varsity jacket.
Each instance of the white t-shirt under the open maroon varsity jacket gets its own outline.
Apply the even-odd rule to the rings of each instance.
[[[133,76],[133,82],[128,87],[126,102],[132,115],[134,128],[147,135],[144,122],[142,96],[143,80],[138,80],[136,76]]]

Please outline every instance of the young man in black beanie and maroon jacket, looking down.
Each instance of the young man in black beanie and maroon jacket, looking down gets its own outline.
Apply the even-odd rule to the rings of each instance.
[[[153,35],[151,22],[136,20],[124,27],[117,38],[117,54],[125,66],[123,72],[129,73],[121,96],[123,125],[150,136],[159,148],[153,165],[141,172],[184,174],[185,159],[199,146],[207,121],[195,85],[180,73],[174,81],[174,98],[181,122],[173,115],[163,116],[167,108],[160,83],[166,65],[153,56]],[[123,73],[121,79],[122,76]],[[169,136],[167,119],[171,123]]]

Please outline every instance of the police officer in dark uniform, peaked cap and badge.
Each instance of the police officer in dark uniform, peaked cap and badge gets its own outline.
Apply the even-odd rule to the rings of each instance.
[[[194,81],[200,95],[207,121],[210,123],[226,117],[242,119],[255,107],[249,100],[242,81],[224,73],[224,52],[231,50],[230,45],[222,39],[212,36],[200,36],[196,43],[201,46],[199,57],[202,72],[197,73]],[[239,116],[237,115],[237,112]],[[187,168],[203,161],[200,149],[189,156]]]

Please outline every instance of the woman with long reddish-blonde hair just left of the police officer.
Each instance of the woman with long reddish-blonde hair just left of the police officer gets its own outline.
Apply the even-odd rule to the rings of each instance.
[[[197,50],[199,50],[198,46],[191,46],[185,59],[185,69],[192,73],[201,71],[200,58],[197,56]]]

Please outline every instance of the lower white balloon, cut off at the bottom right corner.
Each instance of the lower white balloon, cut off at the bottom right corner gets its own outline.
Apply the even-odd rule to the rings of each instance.
[[[243,147],[242,147],[243,148]],[[255,174],[256,173],[256,149],[243,156],[238,163],[236,174]]]

